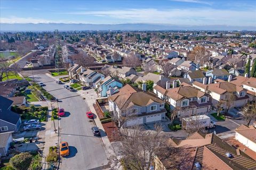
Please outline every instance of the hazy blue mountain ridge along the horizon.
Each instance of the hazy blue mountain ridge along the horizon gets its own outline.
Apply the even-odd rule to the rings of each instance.
[[[1,23],[1,31],[60,31],[68,30],[256,30],[256,27],[241,27],[229,25],[166,25],[166,24],[144,24],[144,23],[124,23],[124,24],[74,24],[74,23]]]

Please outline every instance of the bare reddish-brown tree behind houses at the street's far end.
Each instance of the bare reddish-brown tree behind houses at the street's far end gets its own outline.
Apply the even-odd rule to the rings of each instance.
[[[93,65],[93,62],[94,62],[94,57],[87,55],[85,53],[83,54],[81,52],[73,55],[72,58],[76,64],[79,64],[86,68]]]

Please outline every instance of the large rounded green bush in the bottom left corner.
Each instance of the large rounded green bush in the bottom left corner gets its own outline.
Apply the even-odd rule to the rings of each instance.
[[[27,170],[32,160],[32,155],[28,152],[23,152],[19,155],[15,155],[10,159],[12,167],[18,170]]]

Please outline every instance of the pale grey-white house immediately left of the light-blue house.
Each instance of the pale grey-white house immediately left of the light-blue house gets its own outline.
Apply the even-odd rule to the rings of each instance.
[[[83,68],[84,69],[84,68]],[[79,73],[80,82],[89,87],[96,87],[96,82],[103,79],[104,75],[90,69],[84,69],[83,72]]]

